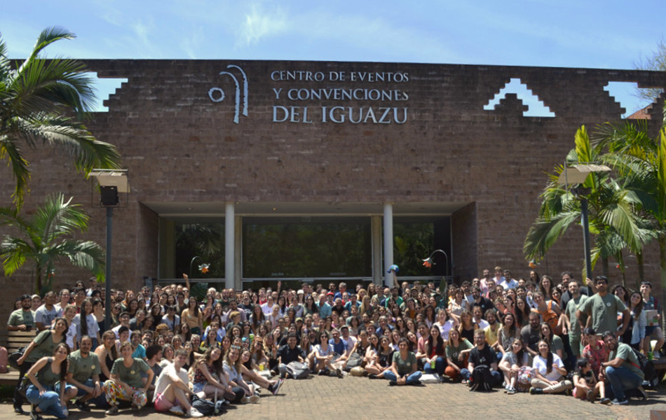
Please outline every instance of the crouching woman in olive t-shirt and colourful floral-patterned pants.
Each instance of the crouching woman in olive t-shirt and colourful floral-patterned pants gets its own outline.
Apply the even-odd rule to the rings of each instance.
[[[146,390],[141,379],[141,372],[148,374],[147,384],[153,381],[154,373],[150,366],[140,358],[132,358],[132,344],[121,344],[121,358],[114,361],[111,367],[111,378],[104,382],[104,393],[111,408],[107,415],[118,414],[118,400],[132,401],[132,409],[140,409],[148,400]]]

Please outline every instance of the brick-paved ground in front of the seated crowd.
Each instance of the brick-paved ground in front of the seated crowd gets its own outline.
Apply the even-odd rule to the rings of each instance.
[[[27,405],[24,407],[27,409]],[[650,410],[666,410],[666,390],[648,391],[648,400],[631,400],[630,405],[611,407],[574,400],[564,395],[505,395],[501,390],[491,393],[470,393],[461,384],[428,384],[424,386],[388,386],[388,381],[360,377],[311,377],[294,381],[287,379],[280,394],[262,391],[258,404],[229,408],[223,417],[245,419],[312,420],[327,418],[334,413],[354,414],[356,419],[633,419],[647,420]],[[90,414],[72,409],[69,419],[92,417],[102,419],[104,412],[93,409]],[[164,420],[154,409],[136,414],[123,410],[116,419],[141,417]],[[25,419],[16,416],[10,404],[0,405],[0,420]],[[49,419],[50,417],[46,417]],[[172,417],[173,418],[173,417]]]

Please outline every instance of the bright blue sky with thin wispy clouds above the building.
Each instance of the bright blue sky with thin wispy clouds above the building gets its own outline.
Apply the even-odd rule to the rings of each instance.
[[[633,69],[664,38],[665,12],[663,0],[33,0],[6,2],[0,31],[10,57],[59,25],[78,38],[49,57]],[[614,89],[627,111],[644,105],[631,87]]]

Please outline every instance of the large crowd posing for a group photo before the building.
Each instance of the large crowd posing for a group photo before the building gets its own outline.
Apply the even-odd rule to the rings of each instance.
[[[602,404],[645,397],[637,352],[658,358],[664,342],[659,326],[646,325],[645,311],[661,313],[648,281],[609,289],[604,276],[580,284],[564,272],[555,284],[495,267],[494,276],[484,270],[440,290],[399,283],[395,270],[390,277],[390,287],[354,290],[344,282],[209,288],[198,302],[184,276],[184,285],[111,290],[111,319],[93,280],[22,295],[7,328],[37,334],[17,360],[15,412],[24,413],[24,376],[34,420],[67,418],[72,406],[117,414],[121,400],[201,417],[195,401],[259,402],[261,388],[276,395],[285,379],[308,374],[503,386],[508,395],[571,393]]]

